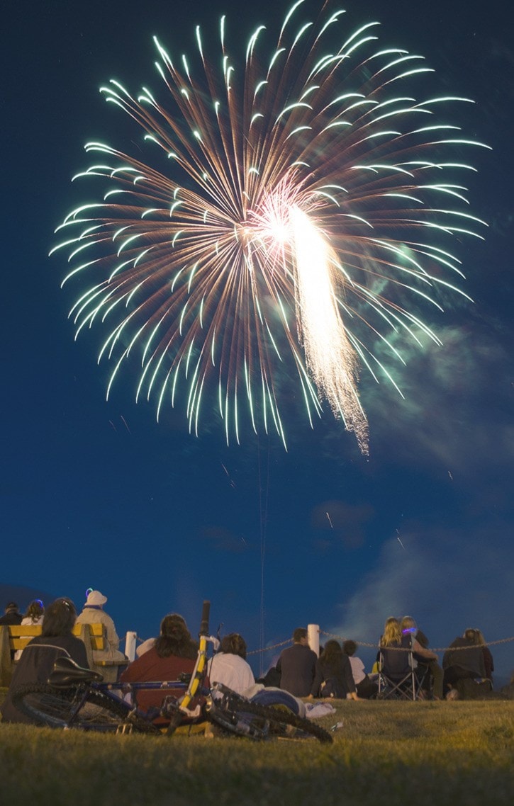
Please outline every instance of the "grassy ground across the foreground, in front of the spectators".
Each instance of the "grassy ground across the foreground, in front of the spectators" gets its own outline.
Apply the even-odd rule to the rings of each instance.
[[[512,806],[514,703],[340,702],[334,744],[0,723],[0,802]]]

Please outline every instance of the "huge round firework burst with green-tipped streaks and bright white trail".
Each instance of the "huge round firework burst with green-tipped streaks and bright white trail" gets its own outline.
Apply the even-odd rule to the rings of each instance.
[[[381,48],[378,23],[351,31],[328,6],[311,23],[296,2],[278,44],[259,27],[240,65],[225,19],[211,60],[197,28],[200,69],[156,39],[163,101],[102,87],[144,129],[155,167],[87,143],[98,162],[77,177],[107,189],[65,218],[55,249],[84,289],[77,334],[107,328],[107,394],[136,356],[136,399],[153,398],[157,418],[184,401],[198,433],[214,397],[227,441],[244,421],[285,445],[279,404],[301,401],[312,424],[327,400],[366,453],[360,368],[395,384],[374,343],[399,361],[401,337],[440,343],[416,305],[462,293],[445,242],[481,237],[460,177],[474,170],[462,152],[483,143],[447,122],[465,98],[414,98],[432,72],[421,56]]]

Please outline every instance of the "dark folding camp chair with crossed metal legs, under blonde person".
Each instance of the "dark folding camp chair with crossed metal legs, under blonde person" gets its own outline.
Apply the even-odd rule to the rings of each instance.
[[[398,647],[381,646],[378,660],[378,700],[417,700],[423,678],[416,675],[412,636],[403,635]]]

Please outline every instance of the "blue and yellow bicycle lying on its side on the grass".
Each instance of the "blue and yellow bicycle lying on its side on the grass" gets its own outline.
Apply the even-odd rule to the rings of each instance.
[[[283,704],[263,705],[220,683],[207,687],[207,647],[218,643],[208,635],[209,609],[210,602],[204,602],[198,655],[191,675],[165,683],[103,683],[98,672],[60,658],[48,683],[20,686],[13,692],[13,703],[37,725],[52,728],[171,735],[184,721],[189,725],[208,721],[223,733],[256,740],[314,737],[320,742],[332,742],[328,731]],[[137,692],[157,689],[164,696],[161,708],[149,709],[148,713],[137,708]],[[171,689],[182,689],[184,694],[166,696],[166,690]],[[198,697],[202,704],[194,704]],[[165,729],[155,725],[153,720],[157,717],[169,725]]]

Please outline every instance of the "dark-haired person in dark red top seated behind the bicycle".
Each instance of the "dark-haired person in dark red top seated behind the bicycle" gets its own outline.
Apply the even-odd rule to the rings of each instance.
[[[154,646],[133,661],[119,677],[120,683],[144,683],[178,680],[182,673],[194,670],[198,646],[190,636],[186,621],[178,613],[170,613],[161,621],[161,634]],[[182,696],[183,689],[167,689],[139,692],[136,696],[138,708],[160,708],[165,696]],[[156,722],[162,721],[157,717]]]

